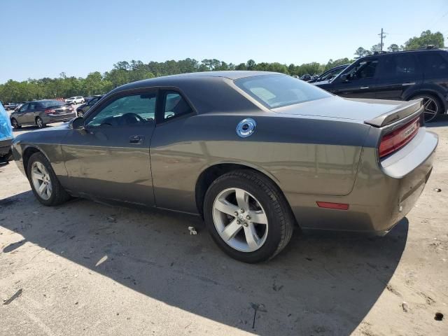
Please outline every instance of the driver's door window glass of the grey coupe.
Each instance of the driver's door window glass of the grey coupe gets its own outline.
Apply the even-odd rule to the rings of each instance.
[[[155,116],[157,94],[132,94],[113,99],[87,120],[88,127],[144,125]]]

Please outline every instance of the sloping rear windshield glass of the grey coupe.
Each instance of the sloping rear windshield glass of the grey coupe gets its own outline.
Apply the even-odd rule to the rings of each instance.
[[[241,78],[235,84],[269,109],[331,97],[314,85],[286,75]]]

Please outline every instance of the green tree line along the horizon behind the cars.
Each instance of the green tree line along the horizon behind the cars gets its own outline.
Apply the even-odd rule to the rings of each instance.
[[[409,41],[397,47],[398,50],[410,50],[421,48],[426,45],[444,46],[444,38],[440,32],[432,34],[430,31],[423,31],[421,36],[410,38]],[[392,44],[389,48],[395,48]],[[357,57],[370,55],[377,51],[377,46],[370,50],[360,47],[354,53]],[[391,51],[397,51],[395,49]],[[169,60],[166,62],[148,62],[132,60],[130,62],[122,61],[113,65],[113,69],[100,73],[94,71],[85,78],[66,76],[62,72],[58,78],[40,78],[23,80],[8,80],[0,85],[0,100],[3,102],[25,102],[32,99],[50,99],[57,97],[72,96],[90,96],[92,94],[104,94],[115,87],[130,83],[135,80],[154,78],[158,76],[175,75],[179,73],[189,73],[198,71],[223,71],[223,70],[258,70],[275,71],[286,73],[291,76],[302,76],[305,73],[311,75],[322,73],[334,66],[349,64],[353,59],[348,57],[342,59],[330,59],[326,64],[311,62],[305,64],[281,64],[278,62],[260,62],[256,63],[249,59],[246,63],[232,64],[220,61],[218,59],[202,59],[201,62],[196,59],[182,59],[179,61]]]

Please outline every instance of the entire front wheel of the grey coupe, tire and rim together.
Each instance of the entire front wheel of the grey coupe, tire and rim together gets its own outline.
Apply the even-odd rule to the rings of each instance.
[[[31,155],[28,161],[27,173],[34,196],[42,204],[53,206],[69,200],[69,194],[62,188],[50,162],[42,153]]]

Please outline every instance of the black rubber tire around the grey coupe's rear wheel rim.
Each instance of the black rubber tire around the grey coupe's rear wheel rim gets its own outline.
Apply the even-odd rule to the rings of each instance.
[[[260,202],[267,216],[269,230],[265,243],[253,252],[241,252],[229,246],[214,225],[213,207],[216,197],[228,188],[241,188]],[[279,188],[263,174],[250,170],[235,170],[216,179],[204,200],[204,220],[216,244],[230,257],[241,262],[255,263],[274,258],[290,241],[295,219]]]

